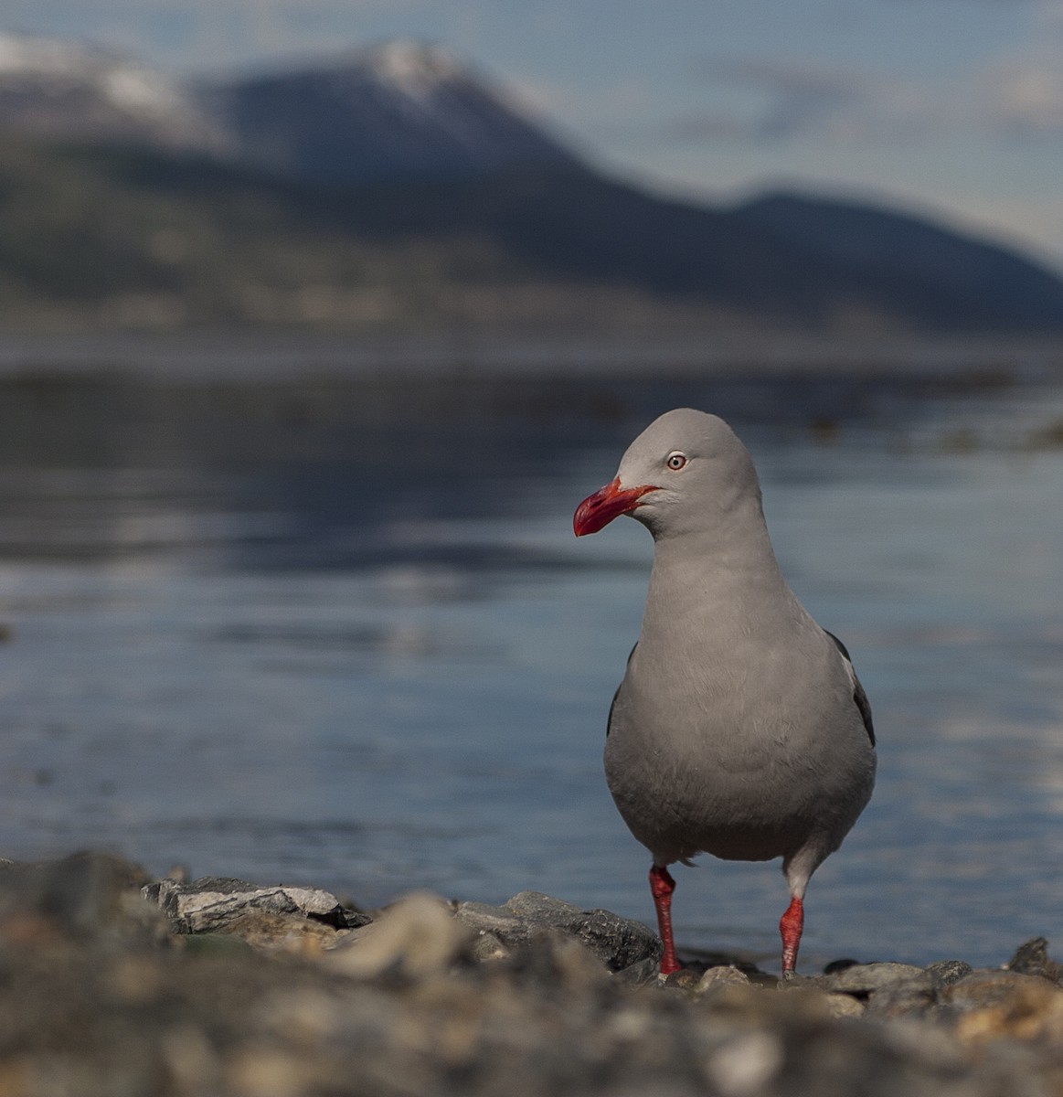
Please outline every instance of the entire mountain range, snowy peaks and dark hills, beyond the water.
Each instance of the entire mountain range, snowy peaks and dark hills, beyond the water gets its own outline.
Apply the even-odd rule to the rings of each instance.
[[[858,203],[654,197],[408,43],[190,89],[0,35],[0,133],[7,328],[1063,331],[1063,280],[1016,252]]]

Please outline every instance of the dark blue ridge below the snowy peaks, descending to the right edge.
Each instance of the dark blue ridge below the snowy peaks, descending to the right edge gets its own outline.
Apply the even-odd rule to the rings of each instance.
[[[1063,279],[916,217],[777,195],[714,210],[585,173],[363,191],[363,233],[494,241],[540,278],[817,330],[1063,330]]]

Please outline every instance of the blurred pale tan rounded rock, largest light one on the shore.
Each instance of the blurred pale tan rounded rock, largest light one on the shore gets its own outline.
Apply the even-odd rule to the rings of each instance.
[[[473,939],[473,930],[454,917],[445,900],[418,893],[354,930],[329,962],[335,971],[359,979],[423,980],[470,955]]]

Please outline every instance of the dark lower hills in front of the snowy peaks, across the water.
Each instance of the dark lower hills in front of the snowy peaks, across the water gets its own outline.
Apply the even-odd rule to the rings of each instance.
[[[858,234],[843,248],[759,204],[704,210],[589,172],[326,186],[10,140],[0,163],[7,326],[1063,330],[1063,281],[987,245],[942,233],[940,246],[940,262],[926,246],[877,259]]]

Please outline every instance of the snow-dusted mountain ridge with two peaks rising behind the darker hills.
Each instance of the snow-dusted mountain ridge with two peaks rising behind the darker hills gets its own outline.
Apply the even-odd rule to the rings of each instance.
[[[196,87],[108,49],[0,33],[3,128],[225,155],[328,181],[579,167],[504,91],[410,41]]]

